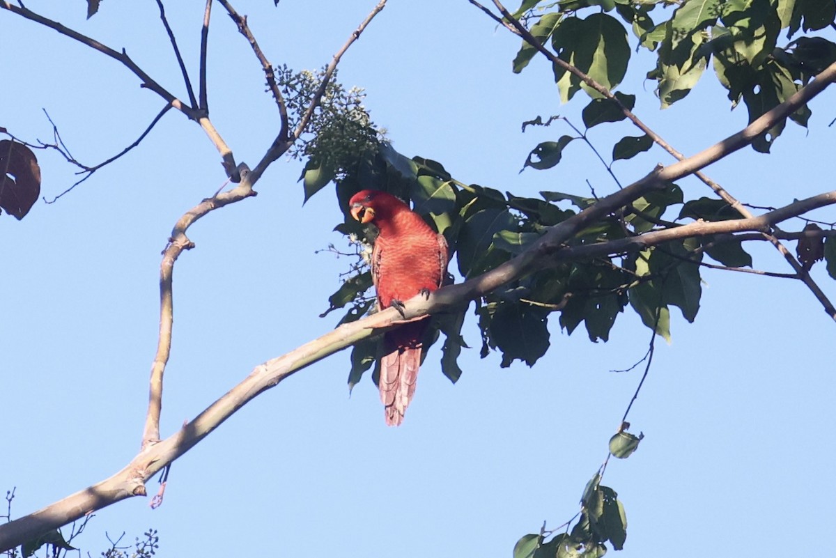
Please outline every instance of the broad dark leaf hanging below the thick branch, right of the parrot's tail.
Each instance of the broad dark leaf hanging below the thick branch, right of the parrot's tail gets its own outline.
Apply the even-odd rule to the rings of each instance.
[[[533,366],[548,350],[548,312],[522,302],[503,302],[493,313],[491,339],[502,351],[502,368],[514,360]]]

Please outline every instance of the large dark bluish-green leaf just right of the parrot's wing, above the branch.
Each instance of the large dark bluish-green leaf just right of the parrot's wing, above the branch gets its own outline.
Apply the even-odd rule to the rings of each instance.
[[[456,245],[461,276],[467,278],[487,271],[485,267],[491,261],[493,236],[499,231],[512,231],[516,227],[517,220],[507,209],[488,208],[470,216],[461,227]]]

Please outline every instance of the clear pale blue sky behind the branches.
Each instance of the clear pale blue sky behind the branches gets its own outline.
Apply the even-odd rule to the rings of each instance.
[[[125,47],[185,95],[153,3],[103,3],[89,21],[83,3],[26,4]],[[203,3],[170,4],[195,68]],[[328,63],[374,5],[236,4],[271,62],[298,69]],[[278,114],[220,6],[213,19],[211,116],[237,160],[255,165]],[[542,60],[512,74],[517,47],[463,0],[391,0],[349,49],[339,79],[366,89],[366,106],[395,149],[439,160],[458,180],[532,196],[586,194],[586,180],[599,195],[614,190],[580,142],[553,170],[518,172],[534,145],[569,133],[554,124],[521,134],[520,124],[562,114],[579,125],[585,101],[560,106]],[[0,125],[49,139],[47,109],[84,162],[129,144],[163,105],[120,64],[8,13],[0,13],[0,48],[0,68],[11,76]],[[678,150],[696,153],[746,124],[710,74],[660,111],[642,81],[650,62],[639,62],[621,89],[638,95],[635,112]],[[810,129],[788,124],[772,155],[745,150],[707,174],[756,205],[833,190],[833,101],[832,91],[816,99]],[[622,124],[621,135],[636,135]],[[607,153],[616,133],[601,127],[590,137]],[[38,158],[43,195],[72,184],[73,170],[56,155]],[[651,150],[614,169],[629,183],[657,162],[670,158]],[[341,215],[331,188],[302,205],[300,170],[277,161],[257,198],[191,229],[196,249],[175,271],[164,436],[253,366],[334,327],[334,314],[318,316],[348,261],[315,251],[343,242],[332,231]],[[55,204],[38,203],[20,222],[0,218],[0,491],[17,486],[13,515],[110,476],[139,449],[160,251],[176,219],[223,180],[201,129],[171,111],[138,149]],[[680,185],[686,196],[709,195],[696,180]],[[832,210],[817,216],[834,220]],[[752,253],[758,268],[789,271],[767,246]],[[836,298],[823,266],[813,277]],[[799,282],[721,271],[703,271],[703,279],[696,323],[672,311],[673,342],[657,343],[630,413],[644,441],[604,477],[627,513],[624,558],[767,555],[816,540],[833,523],[833,322]],[[607,343],[589,342],[580,329],[567,336],[556,316],[550,329],[551,349],[534,368],[501,369],[497,354],[481,360],[474,349],[461,358],[455,386],[434,349],[398,429],[385,426],[368,378],[349,398],[348,353],[336,354],[263,393],[178,460],[160,509],[134,499],[100,510],[77,542],[97,555],[105,531],[132,539],[153,526],[162,556],[509,556],[543,520],[556,527],[578,510],[640,379],[640,370],[610,371],[635,363],[650,339],[630,314]],[[472,317],[464,335],[478,347]]]

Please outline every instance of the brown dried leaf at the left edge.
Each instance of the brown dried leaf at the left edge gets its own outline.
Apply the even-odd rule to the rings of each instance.
[[[0,171],[0,208],[20,221],[41,193],[38,159],[26,145],[2,139]]]

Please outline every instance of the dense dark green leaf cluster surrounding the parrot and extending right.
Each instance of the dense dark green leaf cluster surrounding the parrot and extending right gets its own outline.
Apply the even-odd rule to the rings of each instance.
[[[359,242],[372,243],[374,226],[361,226],[348,215],[348,200],[365,189],[385,190],[410,200],[418,213],[450,246],[449,271],[468,279],[499,266],[528,249],[551,226],[576,215],[594,203],[592,198],[543,191],[525,197],[455,180],[440,163],[400,155],[390,145],[366,152],[337,180],[339,206],[344,222],[336,230]],[[725,202],[683,201],[681,189],[670,184],[640,197],[619,212],[590,224],[567,242],[584,246],[624,239],[658,227],[666,214],[671,219],[706,221],[721,219]],[[731,248],[729,246],[732,246]],[[740,242],[711,239],[669,241],[641,252],[600,256],[582,261],[554,261],[476,301],[475,314],[481,332],[482,358],[494,351],[502,367],[515,360],[532,366],[548,350],[549,321],[571,334],[581,324],[593,342],[609,340],[617,317],[625,310],[637,312],[647,327],[670,338],[671,306],[692,322],[700,307],[701,278],[698,264],[704,253],[725,265],[750,265]],[[329,311],[347,308],[340,323],[351,322],[374,310],[367,292],[370,273],[358,268],[329,298]],[[434,317],[425,349],[443,332],[441,369],[456,381],[456,363],[462,347],[464,313]],[[360,342],[351,355],[349,385],[359,381],[375,362],[374,340]]]

